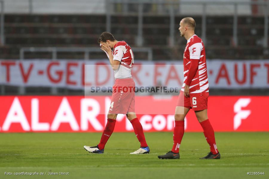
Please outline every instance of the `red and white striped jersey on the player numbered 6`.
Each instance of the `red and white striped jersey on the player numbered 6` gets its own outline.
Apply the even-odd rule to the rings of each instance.
[[[184,51],[183,56],[184,84],[182,85],[181,91],[184,91],[185,81],[187,79],[190,67],[190,59],[199,60],[199,66],[197,72],[195,73],[195,76],[192,79],[192,82],[189,85],[189,92],[190,93],[209,92],[204,43],[201,40],[201,38],[199,38],[196,35],[193,35],[191,38],[189,38]]]

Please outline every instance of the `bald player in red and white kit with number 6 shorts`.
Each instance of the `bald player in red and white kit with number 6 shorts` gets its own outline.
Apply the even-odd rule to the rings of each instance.
[[[192,108],[210,146],[208,155],[200,159],[219,159],[220,153],[216,146],[214,130],[207,117],[209,84],[204,43],[194,33],[195,21],[193,18],[183,18],[179,25],[178,30],[181,37],[187,40],[183,56],[184,84],[182,85],[175,109],[174,144],[172,150],[165,155],[158,156],[158,158],[179,158],[179,147],[184,134],[184,118],[189,112],[189,109]]]

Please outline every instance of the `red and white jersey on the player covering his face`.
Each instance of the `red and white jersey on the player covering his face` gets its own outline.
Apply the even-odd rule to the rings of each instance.
[[[120,67],[114,71],[115,78],[131,78],[131,70],[134,65],[134,53],[125,41],[119,41],[114,45],[113,60],[120,61]]]

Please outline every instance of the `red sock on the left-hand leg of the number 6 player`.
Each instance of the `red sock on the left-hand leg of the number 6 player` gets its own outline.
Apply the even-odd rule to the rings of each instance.
[[[175,127],[174,127],[174,145],[172,147],[172,152],[178,153],[179,152],[179,146],[181,143],[181,140],[184,135],[184,121],[175,121]]]

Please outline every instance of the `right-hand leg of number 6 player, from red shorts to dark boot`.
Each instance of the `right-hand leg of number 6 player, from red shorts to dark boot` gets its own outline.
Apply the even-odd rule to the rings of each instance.
[[[201,93],[201,94],[195,94],[193,97],[190,95],[191,98],[195,97],[196,102],[194,105],[195,108],[195,115],[198,119],[199,123],[201,124],[203,130],[204,130],[204,136],[207,140],[207,143],[210,146],[210,153],[201,158],[201,159],[219,159],[220,154],[218,152],[216,142],[215,142],[215,134],[214,129],[210,124],[210,121],[207,116],[207,98],[208,93]],[[194,106],[193,106],[194,107]]]

